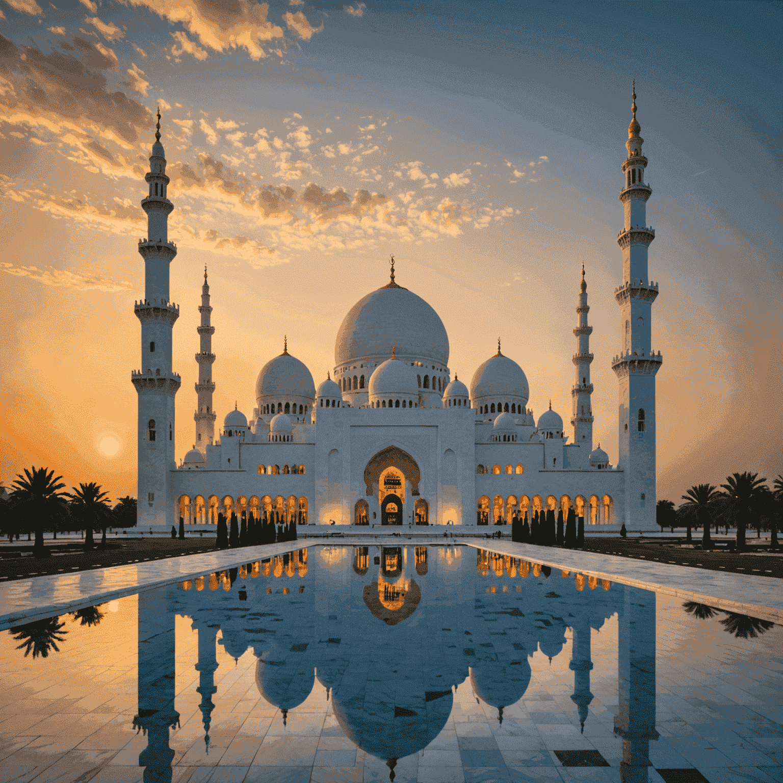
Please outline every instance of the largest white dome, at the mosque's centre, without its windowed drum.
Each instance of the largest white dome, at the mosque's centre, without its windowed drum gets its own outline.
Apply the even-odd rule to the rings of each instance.
[[[397,285],[393,273],[391,283],[359,299],[348,311],[334,342],[334,363],[385,361],[392,345],[401,358],[449,363],[449,337],[438,313],[424,299]]]

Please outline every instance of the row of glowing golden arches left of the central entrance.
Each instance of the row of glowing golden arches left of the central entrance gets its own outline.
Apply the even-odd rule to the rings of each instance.
[[[244,495],[232,497],[224,495],[207,496],[197,495],[193,498],[180,496],[176,513],[182,517],[186,525],[217,525],[218,514],[224,514],[226,519],[236,513],[238,518],[243,514],[252,514],[256,519],[266,518],[277,522],[296,522],[298,525],[307,525],[309,503],[305,496],[290,495],[287,498],[278,495],[272,498],[265,495],[259,498],[257,495],[247,498]]]

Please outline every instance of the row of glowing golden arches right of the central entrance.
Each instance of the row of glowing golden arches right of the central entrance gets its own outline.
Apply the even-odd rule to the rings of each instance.
[[[504,498],[502,495],[496,495],[493,500],[488,496],[482,496],[478,499],[476,507],[477,525],[511,525],[514,514],[519,518],[524,518],[527,514],[528,521],[532,520],[536,511],[554,511],[557,517],[558,508],[563,511],[563,518],[567,518],[568,509],[574,508],[576,517],[584,517],[586,525],[611,525],[614,522],[615,503],[608,495],[597,496],[590,495],[585,497],[577,495],[571,498],[568,495],[562,495],[558,500],[554,495],[548,495],[543,498],[540,495],[529,498],[527,495],[509,495]]]

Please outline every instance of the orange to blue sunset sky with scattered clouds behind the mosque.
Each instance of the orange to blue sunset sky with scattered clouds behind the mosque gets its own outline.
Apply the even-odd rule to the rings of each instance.
[[[0,481],[46,465],[135,496],[161,106],[179,458],[209,269],[218,424],[283,349],[316,385],[348,309],[427,299],[469,382],[496,351],[571,417],[579,270],[594,441],[617,462],[620,165],[631,80],[659,282],[659,498],[783,472],[781,41],[772,2],[0,0]],[[567,426],[567,431],[570,427]]]

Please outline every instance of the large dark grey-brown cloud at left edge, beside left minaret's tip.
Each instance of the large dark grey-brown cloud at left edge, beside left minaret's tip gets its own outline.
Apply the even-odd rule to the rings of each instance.
[[[81,41],[78,52],[88,64],[62,52],[44,55],[34,46],[17,47],[0,34],[0,117],[55,135],[71,132],[73,139],[93,133],[134,148],[139,133],[152,126],[152,112],[124,92],[107,88],[101,70],[114,67],[116,57],[107,56],[114,52],[76,41]]]

